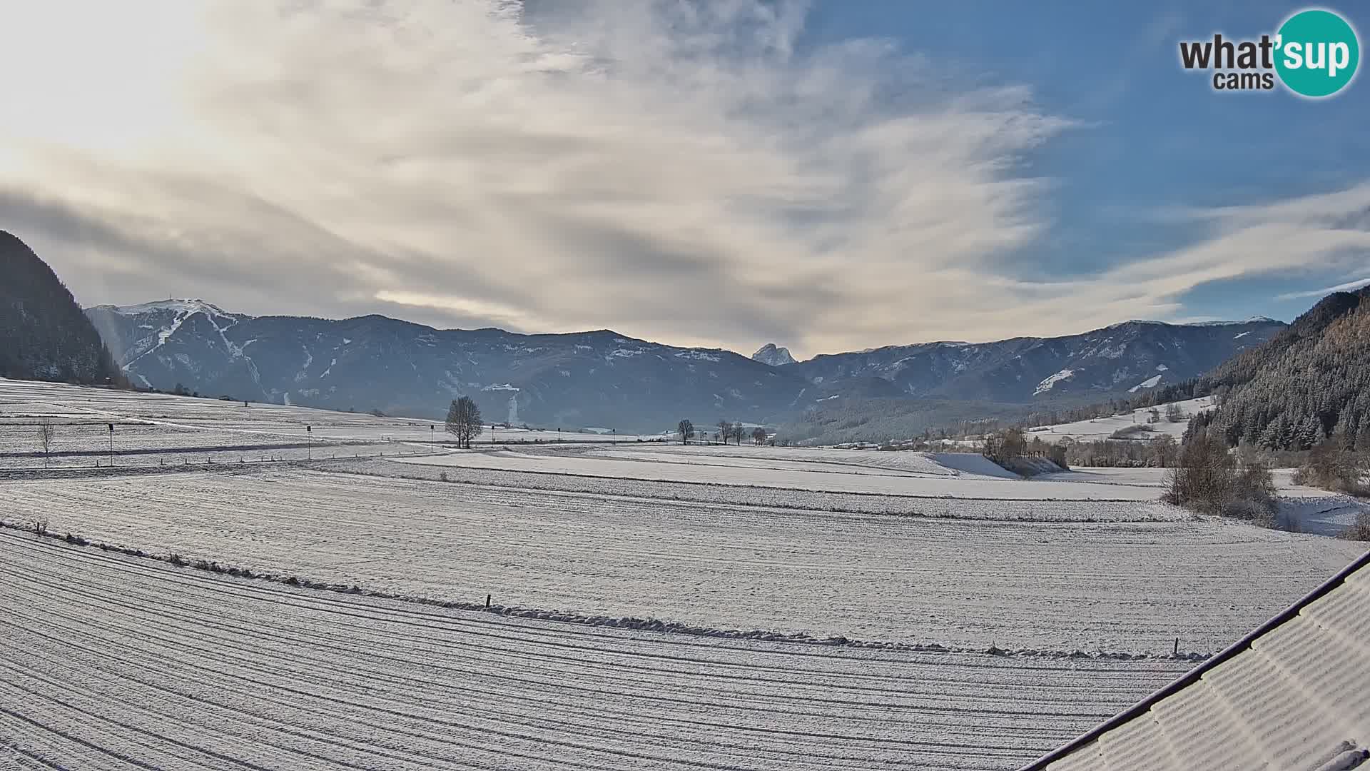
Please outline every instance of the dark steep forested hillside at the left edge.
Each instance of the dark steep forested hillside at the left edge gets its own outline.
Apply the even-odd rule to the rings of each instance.
[[[0,230],[0,377],[111,383],[100,335],[66,285],[23,241]]]

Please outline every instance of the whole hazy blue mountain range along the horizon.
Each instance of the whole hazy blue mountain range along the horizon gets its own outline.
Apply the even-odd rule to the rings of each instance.
[[[470,395],[486,420],[658,432],[681,417],[778,423],[836,399],[1032,405],[1136,394],[1195,377],[1284,329],[1128,321],[1062,337],[919,343],[795,361],[674,347],[607,329],[523,335],[434,329],[382,316],[230,313],[203,300],[95,306],[86,314],[136,386],[440,417]]]

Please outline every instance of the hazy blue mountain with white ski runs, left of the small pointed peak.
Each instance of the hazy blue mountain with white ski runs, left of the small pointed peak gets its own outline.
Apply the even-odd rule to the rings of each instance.
[[[771,418],[806,387],[732,351],[607,329],[518,335],[382,316],[252,317],[203,300],[86,313],[134,384],[342,410],[438,417],[470,395],[490,421],[662,431],[684,416]]]

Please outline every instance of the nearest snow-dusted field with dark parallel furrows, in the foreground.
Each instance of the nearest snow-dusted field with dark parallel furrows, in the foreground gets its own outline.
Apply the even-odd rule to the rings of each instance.
[[[10,531],[0,562],[16,768],[1015,768],[1186,667],[529,621]]]

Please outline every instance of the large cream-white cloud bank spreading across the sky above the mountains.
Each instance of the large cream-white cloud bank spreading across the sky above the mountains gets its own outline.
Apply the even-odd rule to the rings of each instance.
[[[1315,198],[1192,213],[1201,243],[1043,278],[1021,250],[1058,181],[1032,154],[1082,129],[891,41],[814,45],[800,3],[19,14],[0,226],[86,303],[812,354],[1174,316],[1197,284],[1365,247],[1352,188],[1340,221]]]

